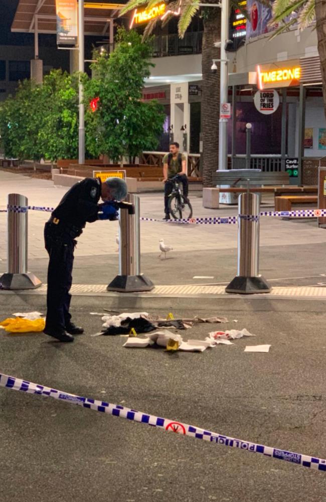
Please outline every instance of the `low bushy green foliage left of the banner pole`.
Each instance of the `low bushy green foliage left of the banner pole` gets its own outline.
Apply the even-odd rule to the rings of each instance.
[[[78,75],[52,70],[42,85],[19,84],[0,106],[1,143],[7,157],[75,158],[78,151]]]

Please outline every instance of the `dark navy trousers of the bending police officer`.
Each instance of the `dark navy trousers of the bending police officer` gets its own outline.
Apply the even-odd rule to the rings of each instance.
[[[73,252],[77,241],[59,232],[56,226],[47,222],[44,228],[45,248],[49,254],[45,329],[62,331],[71,319],[69,291],[72,284]]]

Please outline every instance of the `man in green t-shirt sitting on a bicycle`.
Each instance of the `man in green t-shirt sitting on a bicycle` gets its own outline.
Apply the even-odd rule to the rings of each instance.
[[[171,178],[179,175],[179,179],[183,186],[183,195],[188,197],[188,179],[187,165],[185,155],[179,152],[179,143],[176,141],[170,144],[170,153],[163,157],[163,181],[164,181],[164,219],[170,219],[169,213],[169,195],[173,189]]]

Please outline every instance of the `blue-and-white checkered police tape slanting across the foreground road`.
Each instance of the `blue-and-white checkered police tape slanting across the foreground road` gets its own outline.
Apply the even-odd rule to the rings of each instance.
[[[6,375],[3,373],[0,373],[0,387],[26,392],[27,394],[37,394],[40,396],[52,397],[54,399],[58,399],[70,404],[79,405],[90,410],[107,413],[115,417],[126,418],[128,420],[133,420],[134,422],[148,424],[154,427],[159,427],[160,429],[168,432],[176,432],[178,434],[183,434],[184,436],[190,436],[196,439],[210,441],[211,443],[215,444],[222,444],[231,448],[239,448],[241,450],[247,450],[252,453],[261,453],[266,457],[285,460],[287,462],[301,465],[302,467],[309,467],[311,469],[316,469],[319,471],[326,471],[326,460],[323,458],[302,455],[301,453],[295,453],[293,451],[282,450],[280,448],[264,446],[262,444],[252,443],[250,441],[242,441],[241,439],[236,439],[215,432],[206,431],[205,429],[200,429],[198,427],[194,427],[193,425],[183,424],[182,422],[176,422],[166,418],[156,417],[154,415],[148,415],[137,410],[125,408],[124,406],[84,398],[81,396],[76,396],[74,394],[68,394],[66,392],[51,389],[50,387],[44,387],[43,385],[34,384],[33,382],[21,380],[15,378],[14,376]]]

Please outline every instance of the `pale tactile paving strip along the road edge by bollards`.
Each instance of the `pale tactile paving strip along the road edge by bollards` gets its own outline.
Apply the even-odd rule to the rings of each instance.
[[[47,285],[42,284],[37,290],[45,293]],[[73,284],[72,294],[88,293],[107,293],[105,284]],[[137,294],[142,294],[137,293]],[[200,285],[180,285],[180,286],[156,286],[152,291],[143,294],[151,295],[226,295],[225,286],[200,286]],[[252,295],[250,295],[252,297]],[[270,293],[259,296],[284,296],[284,297],[324,297],[326,298],[326,288],[318,286],[299,286],[299,287],[275,287]]]

